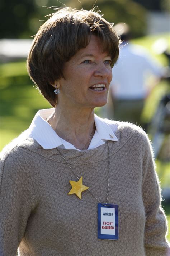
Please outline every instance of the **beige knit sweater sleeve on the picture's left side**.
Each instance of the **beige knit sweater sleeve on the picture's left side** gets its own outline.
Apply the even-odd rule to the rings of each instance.
[[[36,207],[33,184],[22,150],[13,149],[0,162],[0,255],[13,256]]]

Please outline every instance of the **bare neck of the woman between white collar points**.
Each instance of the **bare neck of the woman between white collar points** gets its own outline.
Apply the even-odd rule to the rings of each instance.
[[[77,149],[87,149],[93,138],[94,108],[67,111],[59,106],[48,118],[58,136],[74,145]]]

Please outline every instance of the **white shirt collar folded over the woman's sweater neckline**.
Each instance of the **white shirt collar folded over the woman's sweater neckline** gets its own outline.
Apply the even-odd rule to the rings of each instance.
[[[46,118],[53,112],[53,108],[39,110],[29,127],[29,136],[33,137],[44,149],[60,147],[79,150],[71,143],[60,138],[52,129],[51,125],[46,121]],[[106,122],[106,120],[96,115],[94,121],[96,130],[88,149],[99,147],[100,145],[103,145],[106,140],[118,141],[114,134],[117,130],[117,124],[114,124],[113,122],[109,123],[109,120]]]

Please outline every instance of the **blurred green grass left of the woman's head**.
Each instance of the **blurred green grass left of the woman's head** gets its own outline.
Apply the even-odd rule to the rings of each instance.
[[[0,149],[29,127],[38,109],[50,107],[33,87],[25,61],[1,64],[1,71]]]

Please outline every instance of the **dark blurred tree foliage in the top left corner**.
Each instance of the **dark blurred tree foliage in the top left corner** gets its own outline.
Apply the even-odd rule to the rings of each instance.
[[[53,12],[43,6],[56,6],[56,3],[58,7],[63,6],[57,0],[1,0],[0,38],[28,39],[33,36],[47,20],[44,16]]]

